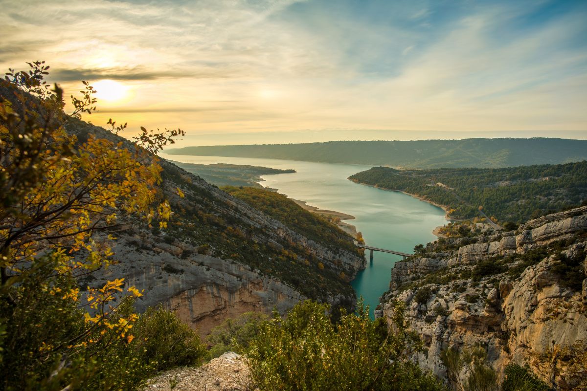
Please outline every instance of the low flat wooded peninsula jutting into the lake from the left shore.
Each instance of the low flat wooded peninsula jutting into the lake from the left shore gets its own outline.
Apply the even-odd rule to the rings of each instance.
[[[254,186],[261,187],[261,175],[291,174],[294,169],[278,169],[239,164],[193,164],[172,161],[191,174],[198,175],[216,186]]]

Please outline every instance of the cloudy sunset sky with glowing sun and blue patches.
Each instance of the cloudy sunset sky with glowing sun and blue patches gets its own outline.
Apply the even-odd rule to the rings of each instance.
[[[177,146],[587,139],[587,1],[0,0],[0,67],[45,60],[106,126]]]

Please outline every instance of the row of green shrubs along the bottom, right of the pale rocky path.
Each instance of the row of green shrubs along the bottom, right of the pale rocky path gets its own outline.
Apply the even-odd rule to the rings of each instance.
[[[396,302],[391,324],[373,321],[359,303],[356,314],[329,317],[325,304],[299,303],[285,318],[247,312],[227,319],[208,336],[211,357],[226,351],[248,356],[252,384],[260,390],[446,390],[440,379],[421,370],[411,354],[423,342],[406,328]],[[498,376],[481,346],[442,353],[451,385],[457,390],[497,391]],[[467,368],[465,370],[465,367]],[[550,388],[527,368],[510,363],[503,391]]]

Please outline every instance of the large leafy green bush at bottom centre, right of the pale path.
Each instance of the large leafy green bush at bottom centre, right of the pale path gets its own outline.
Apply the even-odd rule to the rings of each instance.
[[[410,361],[421,341],[406,330],[397,304],[394,332],[358,313],[330,321],[329,307],[306,301],[285,319],[262,324],[248,349],[248,365],[259,390],[441,390],[436,378]]]

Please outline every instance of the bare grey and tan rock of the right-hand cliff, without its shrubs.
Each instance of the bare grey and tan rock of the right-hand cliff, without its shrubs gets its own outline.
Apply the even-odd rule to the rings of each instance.
[[[470,279],[448,281],[446,284],[430,284],[437,291],[436,302],[428,308],[414,301],[414,291],[398,291],[406,283],[413,283],[414,276],[424,278],[429,273],[446,268],[446,273],[458,276],[462,271],[473,270],[481,260],[524,254],[529,249],[546,247],[556,240],[568,239],[587,229],[587,206],[531,220],[518,232],[477,237],[477,243],[461,246],[458,250],[436,253],[431,258],[413,258],[396,263],[392,270],[390,294],[382,297],[382,311],[377,315],[391,321],[393,300],[406,303],[406,321],[410,328],[424,339],[427,355],[414,355],[420,366],[432,370],[439,376],[446,373],[440,360],[443,349],[453,346],[483,344],[488,359],[498,373],[510,360],[520,365],[529,363],[535,373],[546,373],[538,368],[535,352],[544,352],[556,341],[560,346],[569,346],[578,341],[587,341],[587,279],[582,290],[573,292],[559,284],[559,277],[551,272],[555,260],[552,257],[529,266],[515,280],[507,273],[488,276],[478,283]],[[583,262],[587,268],[583,239],[569,246],[563,253]],[[434,251],[434,249],[430,249]],[[514,264],[508,264],[513,267]],[[490,281],[498,279],[497,288]],[[457,287],[466,290],[455,293]],[[467,300],[467,295],[469,295]],[[478,300],[474,300],[478,295]],[[469,302],[474,301],[474,302]],[[448,316],[436,314],[447,309]],[[431,323],[430,323],[431,322]],[[539,370],[540,369],[540,370]]]

